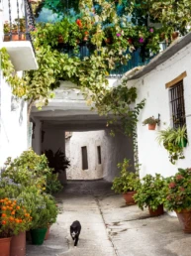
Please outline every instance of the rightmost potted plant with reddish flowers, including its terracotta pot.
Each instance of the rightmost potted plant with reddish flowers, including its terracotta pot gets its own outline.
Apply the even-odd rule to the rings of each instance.
[[[191,233],[191,169],[178,169],[166,179],[164,207],[174,210],[185,233]]]

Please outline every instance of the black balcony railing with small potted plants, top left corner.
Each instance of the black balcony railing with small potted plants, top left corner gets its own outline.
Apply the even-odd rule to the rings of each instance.
[[[31,41],[35,18],[30,0],[4,0],[4,42]]]

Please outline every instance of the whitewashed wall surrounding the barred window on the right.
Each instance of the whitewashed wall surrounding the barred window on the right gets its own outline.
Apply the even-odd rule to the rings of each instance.
[[[183,79],[186,125],[190,145],[184,149],[184,160],[172,165],[168,160],[168,153],[156,141],[157,131],[165,129],[171,124],[168,89],[165,83],[174,79],[182,72],[187,72]],[[146,174],[160,173],[164,177],[174,175],[178,168],[191,167],[191,44],[179,51],[163,64],[145,74],[142,78],[128,82],[128,86],[138,87],[138,100],[146,98],[145,106],[140,115],[138,124],[138,145],[140,164],[142,164],[141,177]],[[160,114],[161,124],[155,131],[148,131],[142,122],[149,116],[157,118]]]

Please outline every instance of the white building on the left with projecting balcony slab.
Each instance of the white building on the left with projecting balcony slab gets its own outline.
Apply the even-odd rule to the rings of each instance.
[[[37,69],[38,64],[31,41],[4,42],[3,25],[5,21],[10,19],[13,21],[17,17],[16,2],[11,0],[9,6],[8,0],[0,1],[0,49],[7,49],[16,71],[22,75],[23,70]],[[30,15],[26,2],[18,1],[22,18],[26,15],[29,18]],[[27,102],[12,95],[11,87],[0,70],[0,167],[3,167],[7,157],[15,158],[26,149],[28,149]]]

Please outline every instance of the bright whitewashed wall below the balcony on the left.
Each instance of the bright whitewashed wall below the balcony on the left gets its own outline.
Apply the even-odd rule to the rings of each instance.
[[[15,158],[27,149],[27,105],[22,100],[11,102],[11,88],[2,77],[0,86],[0,167],[2,167],[7,157]]]

